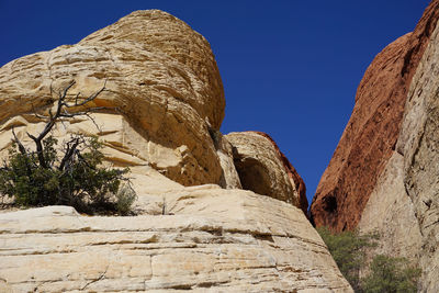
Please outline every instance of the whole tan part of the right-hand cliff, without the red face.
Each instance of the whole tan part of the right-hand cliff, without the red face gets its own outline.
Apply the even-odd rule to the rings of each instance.
[[[420,292],[439,291],[438,48],[439,26],[413,77],[396,150],[358,226],[382,234],[375,253],[419,263]]]

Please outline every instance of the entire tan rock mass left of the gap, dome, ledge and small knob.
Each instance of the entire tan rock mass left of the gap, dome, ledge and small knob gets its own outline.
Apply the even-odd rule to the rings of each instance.
[[[42,129],[35,113],[47,115],[71,80],[71,98],[104,87],[88,104],[103,108],[92,113],[99,127],[64,121],[54,136],[98,135],[106,164],[132,170],[137,216],[0,211],[0,291],[352,292],[303,213],[302,179],[272,139],[219,133],[221,77],[189,25],[137,11],[0,68],[0,156],[12,127],[23,142]],[[275,184],[267,184],[279,193],[240,190],[249,188],[239,165],[247,159],[274,168]]]

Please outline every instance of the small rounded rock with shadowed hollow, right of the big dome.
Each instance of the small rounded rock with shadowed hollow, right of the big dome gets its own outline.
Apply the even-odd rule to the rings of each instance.
[[[274,140],[260,132],[229,133],[235,167],[246,190],[278,199],[306,214],[305,183]]]

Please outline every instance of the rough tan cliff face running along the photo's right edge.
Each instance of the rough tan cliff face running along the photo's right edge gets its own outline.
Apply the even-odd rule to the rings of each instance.
[[[397,144],[423,235],[423,292],[439,292],[439,25],[413,79]]]

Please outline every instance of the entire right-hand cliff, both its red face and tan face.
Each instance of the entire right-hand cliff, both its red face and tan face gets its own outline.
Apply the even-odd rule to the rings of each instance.
[[[438,19],[434,0],[368,68],[311,207],[317,226],[378,230],[374,253],[418,262],[421,292],[439,292]]]

